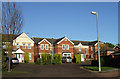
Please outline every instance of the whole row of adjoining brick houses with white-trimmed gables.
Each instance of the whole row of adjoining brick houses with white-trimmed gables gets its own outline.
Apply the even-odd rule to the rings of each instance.
[[[3,36],[3,39],[5,37]],[[5,48],[6,42],[3,41]],[[102,42],[100,42],[102,43]],[[78,41],[70,40],[62,37],[59,39],[53,38],[30,38],[24,32],[16,35],[13,40],[13,57],[17,57],[19,62],[25,62],[25,53],[29,53],[29,62],[33,63],[36,57],[41,58],[41,54],[60,54],[62,57],[70,56],[72,59],[75,54],[81,54],[81,61],[96,59],[95,52],[97,52],[97,41]],[[7,53],[7,51],[6,51]]]

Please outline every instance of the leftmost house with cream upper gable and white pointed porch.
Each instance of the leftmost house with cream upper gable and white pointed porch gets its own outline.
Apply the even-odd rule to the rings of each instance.
[[[3,40],[7,38],[7,35],[2,36]],[[9,38],[7,38],[9,39]],[[4,40],[3,42],[3,48],[5,48],[6,44],[9,43],[9,41]],[[16,37],[13,40],[13,51],[12,55],[13,57],[18,58],[20,63],[24,63],[24,57],[25,53],[29,53],[29,62],[34,62],[34,41],[26,35],[24,32],[20,35],[16,35]],[[8,53],[6,51],[6,53]]]

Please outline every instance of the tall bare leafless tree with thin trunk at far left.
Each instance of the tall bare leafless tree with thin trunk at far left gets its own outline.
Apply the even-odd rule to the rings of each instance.
[[[15,2],[3,2],[2,3],[2,34],[7,35],[6,42],[8,56],[9,56],[9,68],[10,72],[10,58],[13,49],[13,39],[15,35],[20,34],[23,26],[23,16],[21,10],[16,6]]]

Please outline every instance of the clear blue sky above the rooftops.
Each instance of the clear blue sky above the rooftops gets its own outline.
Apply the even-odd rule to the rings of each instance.
[[[97,40],[98,12],[99,40],[118,43],[117,2],[17,2],[24,24],[22,31],[30,37],[70,40]]]

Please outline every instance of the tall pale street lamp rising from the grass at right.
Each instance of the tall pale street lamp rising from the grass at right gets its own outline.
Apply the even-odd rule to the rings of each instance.
[[[99,33],[98,33],[98,13],[92,11],[92,14],[96,15],[96,23],[97,23],[97,40],[98,40],[98,62],[99,62],[99,71],[101,71],[101,63],[100,63],[100,49],[99,49]]]

